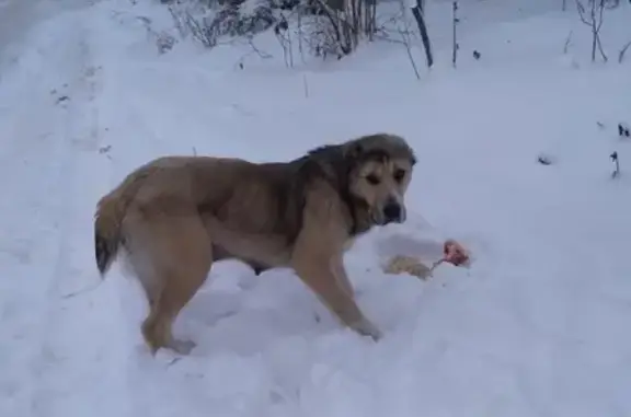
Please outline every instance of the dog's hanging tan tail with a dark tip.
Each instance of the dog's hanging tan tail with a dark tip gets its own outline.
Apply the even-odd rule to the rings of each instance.
[[[145,172],[144,172],[145,171]],[[116,259],[123,242],[123,219],[127,207],[149,174],[150,170],[129,175],[116,189],[105,195],[96,205],[94,215],[94,257],[101,277]]]

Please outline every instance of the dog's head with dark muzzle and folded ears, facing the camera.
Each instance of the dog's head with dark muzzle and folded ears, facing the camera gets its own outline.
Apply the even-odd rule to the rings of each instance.
[[[377,134],[344,144],[348,166],[348,192],[368,210],[377,225],[402,223],[406,219],[404,202],[414,151],[400,136]]]

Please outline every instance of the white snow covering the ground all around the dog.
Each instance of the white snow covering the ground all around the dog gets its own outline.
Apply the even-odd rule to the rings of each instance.
[[[190,39],[159,54],[156,34],[175,34],[162,5],[77,3],[28,18],[0,59],[1,416],[631,415],[631,5],[606,13],[604,65],[561,2],[463,0],[451,69],[450,2],[428,1],[437,65],[416,80],[400,44],[294,68],[273,34],[255,38],[269,59]],[[225,262],[176,322],[198,347],[147,354],[138,285],[96,273],[101,195],[162,154],[286,160],[375,131],[418,157],[408,223],[345,259],[382,340],[342,328],[290,270]],[[470,269],[379,270],[446,238]]]

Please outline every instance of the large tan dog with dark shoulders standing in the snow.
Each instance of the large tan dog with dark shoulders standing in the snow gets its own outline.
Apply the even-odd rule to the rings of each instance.
[[[378,340],[343,265],[352,242],[402,223],[416,162],[400,136],[376,134],[313,149],[289,162],[161,157],[103,196],[94,216],[95,260],[104,279],[119,252],[147,296],[141,325],[154,355],[186,355],[172,324],[214,262],[239,259],[256,275],[292,268],[342,325]],[[123,251],[121,251],[123,250]]]

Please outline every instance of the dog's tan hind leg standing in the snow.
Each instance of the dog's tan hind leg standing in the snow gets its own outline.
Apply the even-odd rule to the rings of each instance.
[[[213,263],[211,242],[195,216],[154,219],[149,233],[153,234],[151,256],[160,288],[150,297],[142,335],[153,354],[169,348],[186,355],[195,344],[175,339],[172,326],[208,276]]]

